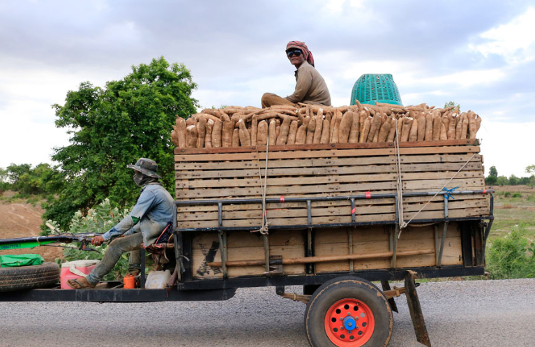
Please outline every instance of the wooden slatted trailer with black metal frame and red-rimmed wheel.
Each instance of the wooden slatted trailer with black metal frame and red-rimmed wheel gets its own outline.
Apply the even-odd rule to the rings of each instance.
[[[416,279],[485,273],[493,191],[479,150],[477,140],[175,149],[172,287],[144,288],[142,258],[140,288],[0,300],[216,301],[271,286],[306,304],[311,346],[358,347],[389,343],[405,294],[416,339],[430,346]]]

